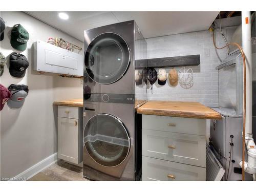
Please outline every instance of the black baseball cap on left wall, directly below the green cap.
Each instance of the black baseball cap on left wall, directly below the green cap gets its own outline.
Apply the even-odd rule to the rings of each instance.
[[[24,77],[26,69],[29,67],[29,61],[26,56],[20,53],[13,52],[10,55],[9,72],[14,77]]]

